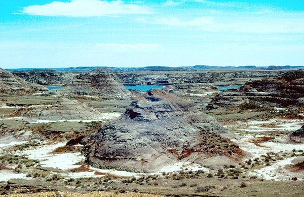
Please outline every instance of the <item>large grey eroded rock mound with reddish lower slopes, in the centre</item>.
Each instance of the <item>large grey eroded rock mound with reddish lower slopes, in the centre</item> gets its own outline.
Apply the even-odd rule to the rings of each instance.
[[[243,152],[213,117],[189,101],[150,90],[126,112],[93,134],[84,151],[98,168],[156,172],[179,160],[203,163],[213,156],[240,161]]]

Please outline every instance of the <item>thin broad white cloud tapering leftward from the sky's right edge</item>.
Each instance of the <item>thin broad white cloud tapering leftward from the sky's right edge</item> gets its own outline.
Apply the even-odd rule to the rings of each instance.
[[[303,14],[281,14],[278,15],[244,15],[236,13],[222,13],[197,17],[191,20],[180,18],[160,18],[154,20],[138,20],[142,23],[161,24],[176,27],[196,27],[208,32],[229,32],[229,33],[249,33],[249,34],[288,34],[304,33]]]

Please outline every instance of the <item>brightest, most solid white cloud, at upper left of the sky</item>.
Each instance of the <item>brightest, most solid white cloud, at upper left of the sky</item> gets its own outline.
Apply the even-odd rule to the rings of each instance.
[[[39,16],[89,17],[119,14],[151,14],[146,6],[125,4],[123,1],[72,0],[52,2],[23,8],[23,14]]]

